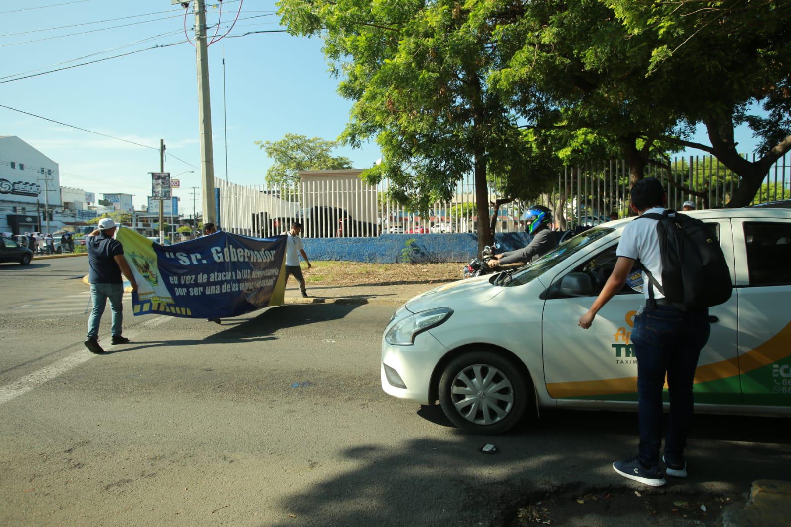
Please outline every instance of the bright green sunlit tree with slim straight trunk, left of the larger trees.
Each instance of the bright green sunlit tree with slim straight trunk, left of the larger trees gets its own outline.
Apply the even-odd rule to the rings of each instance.
[[[479,248],[492,243],[489,179],[531,180],[530,150],[517,115],[490,90],[498,67],[495,21],[475,2],[283,0],[279,13],[293,34],[321,36],[339,93],[354,100],[341,140],[376,138],[383,162],[363,173],[388,177],[392,197],[422,213],[450,201],[464,174],[475,179]]]

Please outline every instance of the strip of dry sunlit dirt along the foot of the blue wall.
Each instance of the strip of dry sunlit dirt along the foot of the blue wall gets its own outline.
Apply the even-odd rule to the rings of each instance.
[[[305,282],[320,286],[396,286],[411,283],[453,282],[462,278],[464,264],[363,264],[311,262],[302,265]]]

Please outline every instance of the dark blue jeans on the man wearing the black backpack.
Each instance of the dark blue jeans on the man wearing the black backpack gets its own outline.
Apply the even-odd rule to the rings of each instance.
[[[638,359],[638,457],[647,467],[660,464],[665,375],[670,419],[664,457],[670,464],[683,463],[692,427],[694,370],[709,334],[708,310],[684,312],[672,305],[657,305],[634,317],[631,338]]]

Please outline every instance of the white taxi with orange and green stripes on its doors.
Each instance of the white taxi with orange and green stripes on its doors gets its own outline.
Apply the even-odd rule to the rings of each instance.
[[[694,379],[698,411],[791,415],[791,210],[691,213],[715,226],[734,290],[710,309]],[[401,306],[384,330],[382,388],[436,400],[457,427],[509,430],[528,408],[637,408],[628,286],[577,326],[615,266],[632,218],[596,226],[528,267],[453,282]]]

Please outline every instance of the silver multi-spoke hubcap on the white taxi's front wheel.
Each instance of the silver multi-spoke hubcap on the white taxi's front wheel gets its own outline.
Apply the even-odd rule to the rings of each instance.
[[[511,381],[488,364],[474,364],[461,370],[453,379],[450,392],[456,411],[470,423],[498,423],[513,408]]]

